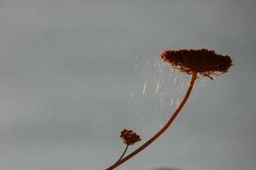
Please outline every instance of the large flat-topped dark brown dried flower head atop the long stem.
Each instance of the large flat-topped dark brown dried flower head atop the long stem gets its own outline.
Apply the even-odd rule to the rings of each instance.
[[[208,49],[165,50],[161,58],[182,72],[191,74],[195,71],[203,77],[223,74],[232,65],[229,55],[216,54]]]

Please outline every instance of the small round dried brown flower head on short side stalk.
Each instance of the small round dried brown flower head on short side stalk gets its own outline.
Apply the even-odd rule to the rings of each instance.
[[[123,139],[125,144],[132,145],[141,141],[140,135],[133,132],[130,129],[124,129],[121,131],[120,138]]]

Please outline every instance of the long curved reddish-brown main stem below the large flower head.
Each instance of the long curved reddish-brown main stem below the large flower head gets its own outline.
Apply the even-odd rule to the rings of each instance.
[[[134,150],[133,152],[131,152],[131,154],[129,154],[128,156],[125,156],[123,159],[115,162],[111,167],[108,167],[107,170],[112,170],[115,167],[119,167],[119,165],[121,165],[122,163],[124,163],[125,161],[128,161],[131,157],[136,156],[140,151],[144,150],[146,147],[148,147],[149,144],[151,144],[152,142],[154,142],[155,139],[157,139],[158,137],[160,137],[160,135],[162,133],[164,133],[166,131],[166,129],[168,127],[170,127],[170,125],[172,124],[172,122],[174,121],[174,119],[176,118],[176,116],[178,115],[179,111],[182,110],[183,105],[185,105],[186,101],[189,99],[189,95],[191,94],[192,88],[194,86],[195,83],[195,79],[197,77],[197,72],[193,72],[192,73],[192,77],[191,80],[189,82],[189,88],[187,93],[185,94],[183,101],[181,102],[180,105],[178,105],[177,110],[173,113],[173,115],[171,116],[171,118],[169,119],[168,122],[166,122],[166,125],[164,127],[162,127],[157,133],[154,134],[154,136],[151,139],[148,139],[147,142],[145,142],[143,145],[141,145],[137,150]]]

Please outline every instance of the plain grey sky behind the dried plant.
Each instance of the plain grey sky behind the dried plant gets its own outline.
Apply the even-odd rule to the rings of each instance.
[[[140,103],[127,105],[150,77],[137,60],[212,48],[233,57],[230,72],[197,81],[172,128],[117,169],[254,170],[255,8],[253,0],[0,0],[0,169],[110,166],[124,149],[119,130],[142,117],[138,126],[154,127],[153,94],[137,95],[140,116],[131,113]]]

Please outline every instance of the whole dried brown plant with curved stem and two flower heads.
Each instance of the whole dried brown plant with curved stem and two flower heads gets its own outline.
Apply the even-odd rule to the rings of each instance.
[[[232,59],[229,55],[216,54],[214,51],[208,49],[168,49],[165,50],[160,56],[161,59],[170,63],[174,68],[191,75],[187,93],[183,97],[180,105],[178,105],[177,110],[174,111],[164,127],[162,127],[157,133],[155,133],[150,139],[148,139],[148,141],[142,144],[137,150],[134,150],[128,156],[122,156],[119,161],[115,162],[111,167],[108,167],[107,170],[118,167],[120,164],[129,160],[131,157],[136,156],[137,153],[148,147],[149,144],[153,143],[155,139],[160,137],[160,135],[164,133],[168,127],[170,127],[174,119],[177,117],[178,113],[182,110],[183,105],[185,105],[185,103],[189,99],[189,95],[191,94],[198,74],[200,74],[202,77],[209,77],[213,79],[212,75],[224,74],[230,69],[230,66],[232,65]],[[132,131],[130,133],[132,133]],[[140,138],[139,136],[137,137],[135,135],[135,138],[132,140],[127,140],[127,138],[123,139],[125,144],[127,144],[127,141],[129,141],[128,144],[130,144],[131,141],[134,142],[136,141],[136,139]],[[131,142],[131,144],[133,143]]]

